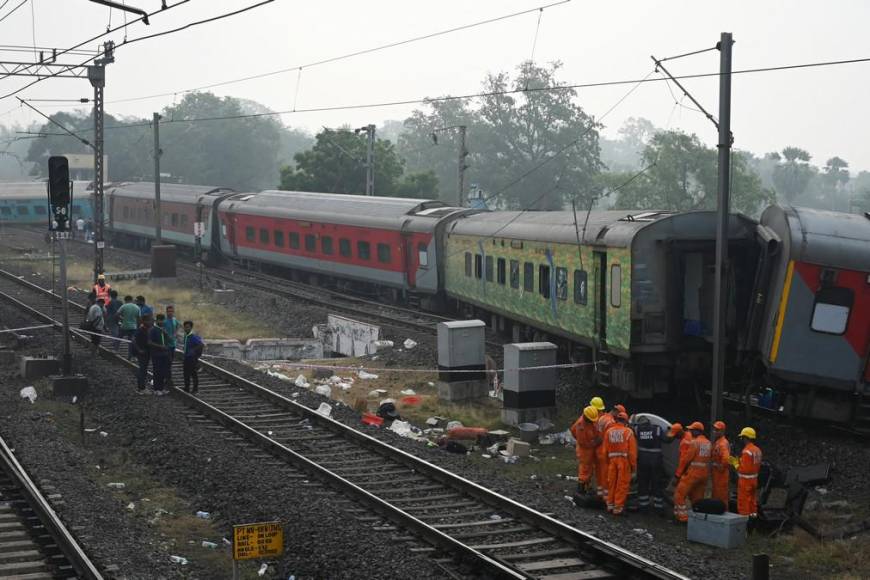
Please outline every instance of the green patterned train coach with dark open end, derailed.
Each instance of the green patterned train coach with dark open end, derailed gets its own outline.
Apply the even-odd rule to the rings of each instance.
[[[729,223],[728,344],[749,309],[756,222]],[[447,227],[445,292],[512,339],[552,340],[636,397],[706,380],[715,212],[486,212]]]

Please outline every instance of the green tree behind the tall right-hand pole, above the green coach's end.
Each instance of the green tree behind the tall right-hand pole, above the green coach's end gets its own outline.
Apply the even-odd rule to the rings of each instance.
[[[618,174],[605,182],[616,192],[615,206],[632,209],[688,211],[715,209],[718,188],[716,150],[694,134],[680,131],[657,133],[643,152],[643,173]],[[774,199],[749,168],[747,157],[731,156],[731,208],[755,215]]]

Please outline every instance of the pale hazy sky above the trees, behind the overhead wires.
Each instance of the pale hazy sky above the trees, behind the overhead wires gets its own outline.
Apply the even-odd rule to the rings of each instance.
[[[169,0],[169,4],[176,0]],[[0,11],[2,18],[19,0]],[[160,0],[127,0],[148,11]],[[127,28],[129,38],[166,30],[255,4],[256,0],[192,0]],[[33,12],[31,13],[31,4]],[[500,0],[359,2],[276,0],[245,14],[169,36],[119,47],[107,69],[107,111],[151,116],[172,96],[118,102],[154,93],[183,91],[280,68],[304,65],[380,44],[470,24],[547,4]],[[0,22],[3,45],[65,48],[106,29],[109,9],[88,0],[28,0]],[[112,11],[112,24],[123,21]],[[488,72],[512,70],[532,54],[538,13],[439,36],[374,54],[212,89],[219,95],[253,99],[274,110],[358,105],[477,92]],[[855,1],[767,2],[584,2],[544,10],[534,57],[564,63],[560,79],[586,83],[634,79],[653,68],[650,55],[670,56],[715,45],[720,32],[734,34],[734,68],[754,68],[870,57],[870,3]],[[111,38],[120,44],[122,31]],[[96,48],[97,42],[84,48]],[[5,60],[32,54],[0,53]],[[65,56],[65,63],[83,57]],[[80,62],[80,60],[79,60]],[[716,72],[717,52],[669,63],[674,74]],[[654,78],[657,75],[653,75]],[[867,103],[870,62],[826,68],[736,75],[732,129],[735,145],[756,153],[797,145],[820,165],[839,155],[853,172],[870,169]],[[0,80],[6,94],[28,79]],[[688,80],[699,101],[718,113],[718,79]],[[629,87],[581,90],[578,102],[600,117]],[[24,98],[91,96],[87,80],[51,79],[21,93]],[[679,96],[679,94],[678,94]],[[176,98],[180,98],[180,95]],[[689,104],[688,101],[685,101]],[[34,103],[46,112],[59,105]],[[321,126],[379,124],[402,119],[413,106],[282,115],[289,126],[316,131]],[[674,107],[664,83],[638,88],[604,123],[616,135],[632,116],[657,126],[697,133],[715,143],[715,129],[697,112]],[[28,123],[38,117],[14,98],[0,100],[0,123]],[[232,122],[232,121],[222,121]],[[109,152],[111,154],[111,152]]]

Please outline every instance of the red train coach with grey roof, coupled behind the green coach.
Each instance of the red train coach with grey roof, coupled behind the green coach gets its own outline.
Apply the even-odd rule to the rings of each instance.
[[[218,206],[226,257],[354,280],[399,295],[441,290],[436,232],[468,210],[440,201],[263,191]]]

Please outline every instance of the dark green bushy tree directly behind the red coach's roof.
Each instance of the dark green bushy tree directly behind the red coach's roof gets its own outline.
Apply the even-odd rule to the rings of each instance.
[[[409,174],[390,141],[376,139],[375,194],[431,198],[437,196],[434,173]],[[324,129],[314,147],[297,153],[295,167],[281,168],[281,189],[364,194],[366,190],[366,138],[350,129]]]

